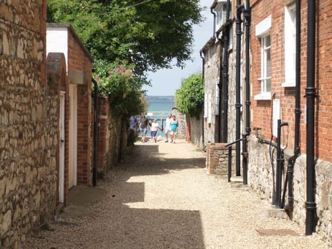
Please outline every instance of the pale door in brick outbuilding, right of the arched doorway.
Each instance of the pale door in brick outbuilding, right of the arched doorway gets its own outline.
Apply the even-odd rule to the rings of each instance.
[[[70,117],[69,117],[69,167],[68,187],[77,184],[77,86],[69,85]]]

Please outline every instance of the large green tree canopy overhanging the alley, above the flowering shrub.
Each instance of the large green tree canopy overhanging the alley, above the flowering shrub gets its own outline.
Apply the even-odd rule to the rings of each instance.
[[[199,0],[48,0],[48,22],[68,22],[98,59],[127,60],[136,74],[184,66]],[[175,61],[174,61],[175,59]]]

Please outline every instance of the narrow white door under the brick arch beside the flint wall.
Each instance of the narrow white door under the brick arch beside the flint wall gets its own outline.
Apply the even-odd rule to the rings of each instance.
[[[59,202],[64,203],[64,92],[60,93],[60,120],[59,120]]]

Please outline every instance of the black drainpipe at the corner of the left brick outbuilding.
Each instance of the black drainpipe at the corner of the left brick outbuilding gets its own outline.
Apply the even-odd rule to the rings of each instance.
[[[93,96],[93,168],[92,168],[92,182],[93,187],[97,184],[97,167],[98,167],[98,133],[99,133],[99,91],[98,83],[92,78],[94,96]]]

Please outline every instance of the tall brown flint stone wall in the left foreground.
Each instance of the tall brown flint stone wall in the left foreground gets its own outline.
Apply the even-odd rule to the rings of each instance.
[[[0,248],[19,248],[55,209],[58,96],[45,86],[46,2],[1,1],[0,15]]]

